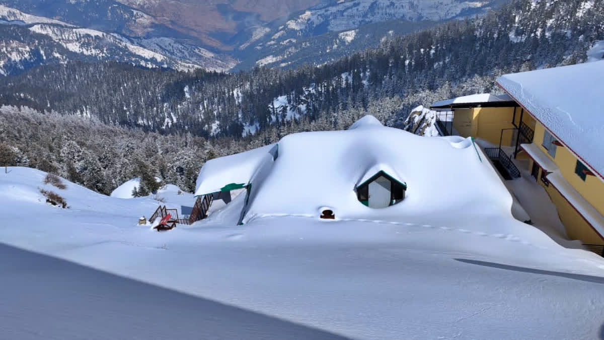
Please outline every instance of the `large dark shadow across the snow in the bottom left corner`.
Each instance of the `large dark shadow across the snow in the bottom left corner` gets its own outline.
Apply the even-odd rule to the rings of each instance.
[[[0,258],[7,339],[345,339],[4,244]]]

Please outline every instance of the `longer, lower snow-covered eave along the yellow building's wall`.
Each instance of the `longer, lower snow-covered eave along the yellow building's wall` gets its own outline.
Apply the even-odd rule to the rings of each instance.
[[[560,171],[551,172],[545,178],[604,240],[604,216],[564,179]]]

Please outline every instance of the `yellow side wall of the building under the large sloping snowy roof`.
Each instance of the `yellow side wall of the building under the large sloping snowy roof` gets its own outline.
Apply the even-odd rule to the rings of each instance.
[[[556,149],[556,157],[551,157],[547,150],[542,146],[544,132],[544,126],[541,125],[541,123],[536,123],[535,139],[533,139],[533,143],[538,145],[539,149],[556,163],[562,177],[564,177],[564,179],[567,180],[586,201],[593,205],[600,214],[604,215],[604,181],[596,176],[589,175],[586,176],[585,181],[583,181],[579,175],[575,173],[577,165],[576,157],[563,146],[558,146]],[[530,166],[532,167],[532,162]],[[539,176],[541,176],[541,171],[539,172]],[[562,223],[564,223],[564,226],[567,228],[568,236],[582,240],[583,243],[604,244],[604,240],[599,237],[599,235],[581,217],[579,212],[577,212],[552,185],[545,186],[541,180],[538,180],[538,182],[545,187],[551,200],[556,204]]]

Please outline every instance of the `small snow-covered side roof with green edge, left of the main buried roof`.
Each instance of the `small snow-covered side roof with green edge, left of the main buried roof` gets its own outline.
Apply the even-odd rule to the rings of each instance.
[[[208,160],[197,178],[195,195],[242,188],[252,183],[263,163],[272,162],[275,145]]]

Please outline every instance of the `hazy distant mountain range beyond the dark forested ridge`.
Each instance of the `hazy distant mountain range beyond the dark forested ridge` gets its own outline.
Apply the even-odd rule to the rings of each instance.
[[[68,60],[216,71],[324,64],[500,2],[0,0],[0,74]]]

